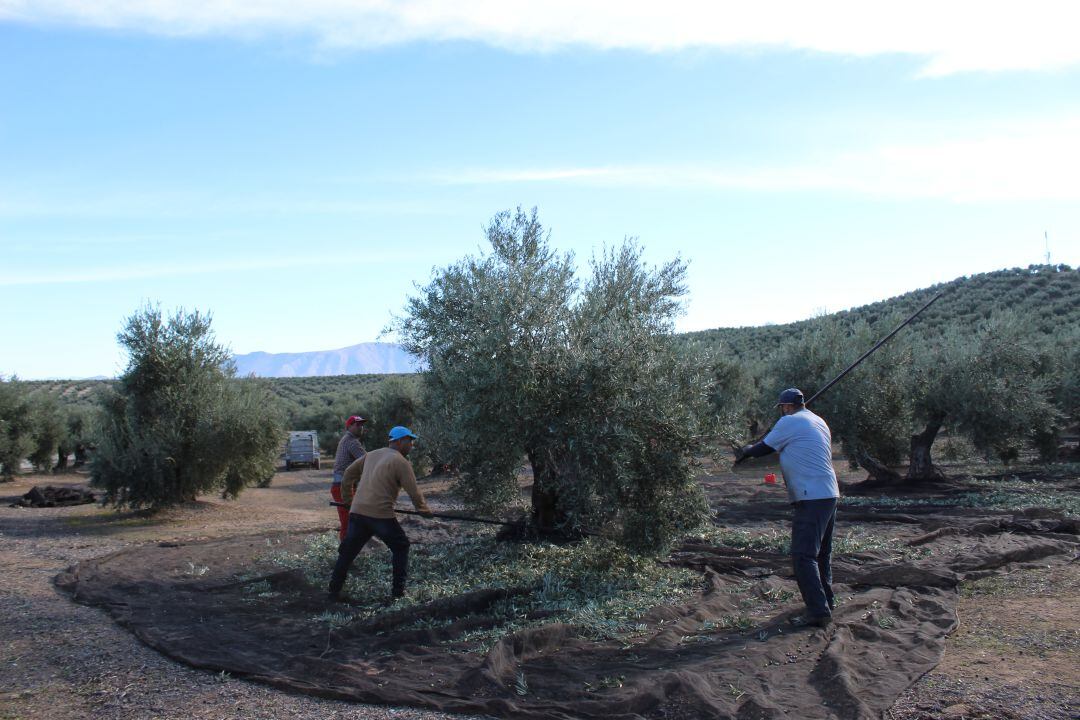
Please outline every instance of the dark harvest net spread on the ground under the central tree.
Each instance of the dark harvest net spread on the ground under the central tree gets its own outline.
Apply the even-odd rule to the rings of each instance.
[[[1071,513],[970,500],[845,503],[825,629],[792,623],[789,510],[762,493],[730,498],[662,563],[410,518],[409,595],[389,606],[377,542],[353,602],[325,601],[330,534],[137,547],[58,583],[172,657],[325,697],[515,718],[877,717],[940,661],[958,583],[1076,558]]]

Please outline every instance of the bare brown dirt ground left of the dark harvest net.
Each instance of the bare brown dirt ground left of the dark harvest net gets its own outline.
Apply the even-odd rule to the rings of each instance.
[[[152,519],[97,505],[8,506],[36,485],[85,479],[24,475],[0,485],[0,720],[462,717],[288,694],[192,669],[53,585],[57,573],[79,560],[134,545],[336,527],[326,504],[328,472],[281,473],[271,487],[252,488],[238,501],[207,497]]]

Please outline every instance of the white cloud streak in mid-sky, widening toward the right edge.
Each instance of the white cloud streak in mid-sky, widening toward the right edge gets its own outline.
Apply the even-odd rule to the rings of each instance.
[[[464,169],[447,185],[578,182],[751,191],[833,191],[955,202],[1080,201],[1080,118],[984,137],[850,151],[779,167],[603,166]]]

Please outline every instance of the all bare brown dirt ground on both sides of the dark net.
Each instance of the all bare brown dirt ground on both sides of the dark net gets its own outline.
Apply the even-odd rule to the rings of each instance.
[[[765,467],[704,479],[714,505],[732,490],[779,498]],[[326,530],[328,472],[281,473],[238,501],[205,498],[147,518],[96,505],[12,508],[35,485],[79,485],[79,475],[22,476],[0,486],[0,720],[14,718],[443,718],[413,708],[288,694],[195,670],[143,646],[98,609],[72,602],[53,579],[72,563],[136,545],[261,532]],[[847,480],[861,479],[851,475]],[[429,486],[435,495],[445,486]],[[738,525],[733,520],[732,525]],[[783,518],[775,520],[786,530]],[[843,532],[845,528],[838,528]],[[1080,712],[1080,570],[1030,568],[961,586],[959,629],[943,662],[887,711],[890,720],[1076,718]]]

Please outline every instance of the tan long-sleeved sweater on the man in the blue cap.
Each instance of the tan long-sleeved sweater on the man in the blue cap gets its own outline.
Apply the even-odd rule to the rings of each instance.
[[[352,498],[350,513],[389,519],[394,517],[394,502],[402,490],[421,513],[430,513],[420,488],[416,486],[413,465],[397,450],[379,448],[353,461],[341,478],[341,492]]]

